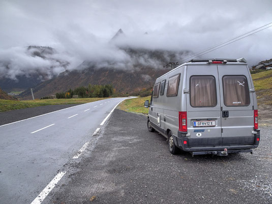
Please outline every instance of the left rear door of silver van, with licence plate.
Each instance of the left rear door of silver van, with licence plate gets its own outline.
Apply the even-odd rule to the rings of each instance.
[[[217,65],[188,65],[188,146],[220,146],[221,104]]]

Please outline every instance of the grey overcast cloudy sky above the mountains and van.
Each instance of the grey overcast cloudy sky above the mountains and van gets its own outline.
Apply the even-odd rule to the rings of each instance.
[[[153,1],[141,0],[80,4],[4,0],[0,2],[0,74],[16,79],[40,73],[46,80],[89,66],[132,71],[142,66],[163,68],[171,60],[183,61],[268,23],[271,6],[271,1],[171,0],[154,6]],[[124,35],[111,41],[120,28]],[[253,65],[272,58],[271,35],[269,28],[201,58],[245,57]],[[54,50],[39,56],[41,50],[28,45]]]

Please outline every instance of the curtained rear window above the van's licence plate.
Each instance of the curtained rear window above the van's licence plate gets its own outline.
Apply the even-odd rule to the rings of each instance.
[[[217,105],[215,77],[202,75],[190,78],[190,104],[192,107],[215,107]]]

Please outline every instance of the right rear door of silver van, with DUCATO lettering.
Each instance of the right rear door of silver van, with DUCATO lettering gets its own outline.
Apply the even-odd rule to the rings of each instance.
[[[218,65],[221,93],[222,145],[254,143],[254,101],[246,65]]]

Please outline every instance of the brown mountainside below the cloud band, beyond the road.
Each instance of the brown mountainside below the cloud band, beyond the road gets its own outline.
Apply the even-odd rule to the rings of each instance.
[[[168,72],[169,68],[155,69],[154,67],[138,67],[135,71],[111,68],[89,67],[84,70],[66,71],[58,77],[43,82],[35,87],[35,98],[64,92],[79,86],[88,84],[105,85],[111,84],[117,92],[132,93],[139,89],[153,87],[155,80],[162,74]],[[26,90],[18,97],[31,99],[31,91]]]

